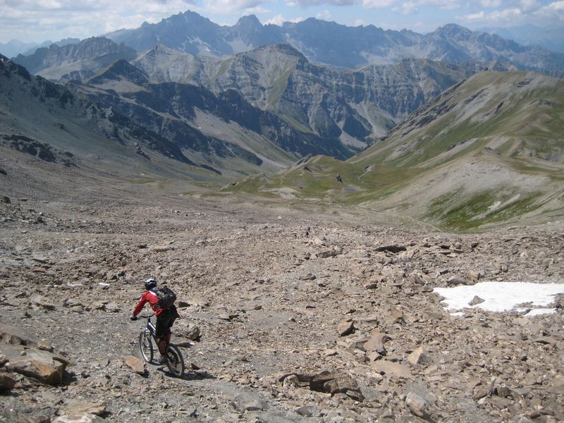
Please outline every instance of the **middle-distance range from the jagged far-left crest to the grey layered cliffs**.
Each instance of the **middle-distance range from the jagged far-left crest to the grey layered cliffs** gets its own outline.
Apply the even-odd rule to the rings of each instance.
[[[293,134],[300,134],[296,139],[309,139],[305,142],[309,147],[299,147],[298,142],[288,150],[290,153],[298,157],[317,153],[339,158],[360,151],[450,85],[485,68],[476,62],[404,59],[390,65],[338,71],[310,63],[288,44],[216,59],[181,53],[163,45],[136,55],[123,43],[118,45],[106,38],[38,49],[32,56],[18,56],[14,60],[44,78],[95,86],[96,95],[105,90],[111,96],[123,97],[125,93],[142,92],[147,83],[155,87],[161,83],[196,85],[215,96],[233,90],[258,109],[255,116],[267,112],[281,121],[281,130],[291,128]],[[103,68],[106,63],[112,64]],[[505,69],[502,63],[490,66]],[[164,98],[165,95],[166,91],[159,92],[159,102],[168,104],[171,99]],[[116,104],[118,107],[129,103]],[[139,120],[138,123],[143,124]],[[202,124],[193,126],[207,128]],[[210,133],[214,133],[213,128]],[[317,140],[317,147],[312,148],[312,140]]]

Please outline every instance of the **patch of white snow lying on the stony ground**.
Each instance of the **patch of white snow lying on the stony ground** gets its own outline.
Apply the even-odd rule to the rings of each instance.
[[[527,317],[555,312],[546,307],[555,300],[555,296],[564,293],[564,283],[530,283],[530,282],[480,282],[469,286],[454,286],[452,288],[435,288],[445,299],[446,309],[460,315],[460,311],[469,308],[480,308],[489,312],[526,312],[531,309]],[[471,306],[469,303],[474,296],[482,298],[484,302]],[[524,305],[517,307],[517,305]],[[535,308],[536,307],[536,308]]]

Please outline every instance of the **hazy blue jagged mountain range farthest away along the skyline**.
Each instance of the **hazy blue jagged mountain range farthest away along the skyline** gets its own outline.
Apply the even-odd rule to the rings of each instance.
[[[187,11],[144,23],[134,30],[106,35],[136,51],[157,44],[197,56],[225,57],[269,44],[290,44],[314,63],[353,69],[368,64],[395,63],[401,59],[448,61],[506,61],[522,70],[562,76],[564,54],[541,47],[524,47],[486,32],[472,32],[449,24],[422,35],[410,30],[382,30],[374,25],[348,27],[315,18],[300,23],[262,25],[256,16],[220,26]]]

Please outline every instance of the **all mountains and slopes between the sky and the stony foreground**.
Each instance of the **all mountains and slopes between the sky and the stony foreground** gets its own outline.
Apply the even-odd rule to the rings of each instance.
[[[375,27],[355,28],[355,40],[334,23],[292,25],[272,44],[276,27],[252,16],[219,27],[187,12],[109,35],[119,44],[0,56],[0,148],[54,173],[214,181],[228,184],[221,195],[330,201],[459,230],[558,216],[563,82],[517,70],[560,75],[564,55],[447,25],[424,41],[381,32],[375,59],[364,48],[377,43],[362,41]],[[307,35],[316,25],[340,34],[335,51],[348,45],[353,62],[382,63],[321,64],[331,51]]]

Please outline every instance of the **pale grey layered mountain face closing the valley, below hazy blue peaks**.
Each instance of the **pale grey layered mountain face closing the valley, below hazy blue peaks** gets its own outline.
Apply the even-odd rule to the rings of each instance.
[[[350,148],[383,135],[450,85],[483,70],[478,63],[448,65],[406,59],[354,72],[314,65],[288,44],[259,47],[228,59],[202,59],[164,46],[147,51],[135,66],[154,82],[236,90],[253,106],[300,123]],[[322,99],[322,101],[321,101]]]

